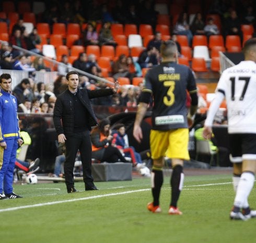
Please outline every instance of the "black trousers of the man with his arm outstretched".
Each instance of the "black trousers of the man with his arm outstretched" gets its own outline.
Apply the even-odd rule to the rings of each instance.
[[[65,183],[67,188],[74,186],[74,165],[77,151],[80,151],[80,157],[83,165],[83,177],[86,186],[94,185],[94,178],[91,175],[91,139],[90,132],[74,133],[72,136],[66,136],[66,160],[64,162]]]

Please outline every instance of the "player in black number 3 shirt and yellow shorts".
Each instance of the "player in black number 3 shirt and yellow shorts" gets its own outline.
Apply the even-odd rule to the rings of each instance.
[[[163,42],[160,47],[162,62],[148,70],[134,123],[133,136],[141,143],[141,122],[153,96],[152,130],[150,150],[153,159],[151,173],[153,202],[147,209],[161,212],[159,196],[164,181],[162,169],[165,156],[172,160],[171,202],[169,214],[181,215],[177,202],[183,186],[183,160],[189,160],[188,118],[193,117],[197,108],[197,91],[194,76],[187,66],[179,65],[176,43]],[[186,107],[187,91],[191,96],[191,107]]]

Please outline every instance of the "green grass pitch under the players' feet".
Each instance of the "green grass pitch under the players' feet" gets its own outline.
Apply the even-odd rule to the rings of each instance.
[[[0,202],[1,242],[255,242],[256,219],[229,220],[231,175],[185,177],[181,216],[167,213],[169,177],[159,214],[146,210],[152,201],[149,178],[96,185],[100,190],[84,191],[84,184],[76,183],[82,191],[75,194],[67,194],[64,183],[14,185],[24,198]],[[254,187],[252,207],[255,196]]]

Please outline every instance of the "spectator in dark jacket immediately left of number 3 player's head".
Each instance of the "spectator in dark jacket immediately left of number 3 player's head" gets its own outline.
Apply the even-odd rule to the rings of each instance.
[[[139,55],[138,64],[141,66],[141,68],[151,68],[158,65],[158,54],[159,52],[156,47],[149,46]]]

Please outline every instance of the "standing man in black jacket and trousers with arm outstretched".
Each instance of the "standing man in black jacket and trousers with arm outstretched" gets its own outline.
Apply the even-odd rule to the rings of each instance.
[[[75,71],[67,73],[66,83],[68,88],[56,99],[53,122],[58,135],[58,142],[66,145],[64,174],[67,193],[77,191],[74,187],[73,170],[78,149],[83,164],[85,190],[97,190],[91,175],[90,140],[91,126],[97,125],[97,119],[90,99],[117,93],[119,84],[115,82],[113,88],[95,89],[94,91],[86,88],[78,89],[79,77]]]

